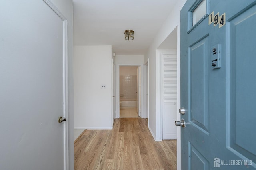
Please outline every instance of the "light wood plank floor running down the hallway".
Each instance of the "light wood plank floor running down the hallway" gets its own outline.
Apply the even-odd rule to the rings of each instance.
[[[176,170],[176,140],[154,141],[147,119],[119,118],[74,143],[75,170]]]

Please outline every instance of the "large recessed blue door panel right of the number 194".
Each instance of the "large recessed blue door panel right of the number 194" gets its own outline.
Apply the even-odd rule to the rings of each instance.
[[[256,48],[256,6],[252,6],[230,21],[230,145],[242,155],[256,160],[256,138],[245,140],[248,134],[254,134],[255,94],[254,87]],[[242,113],[242,114],[241,114]],[[232,119],[233,118],[233,119]],[[246,123],[244,123],[246,122]],[[246,132],[246,133],[245,133]]]

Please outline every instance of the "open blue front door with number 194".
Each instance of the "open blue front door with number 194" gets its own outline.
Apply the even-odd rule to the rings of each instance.
[[[182,170],[256,169],[256,0],[181,10]]]

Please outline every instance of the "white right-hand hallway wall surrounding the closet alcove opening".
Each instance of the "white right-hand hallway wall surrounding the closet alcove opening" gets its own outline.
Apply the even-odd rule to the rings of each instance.
[[[177,27],[177,119],[180,119],[178,108],[180,107],[180,10],[185,4],[186,0],[179,0],[172,8],[171,13],[166,19],[165,23],[160,28],[158,35],[154,39],[154,42],[150,45],[146,55],[144,56],[144,62],[149,58],[149,118],[148,127],[155,140],[161,140],[162,125],[160,124],[159,115],[159,102],[156,100],[156,95],[159,92],[156,91],[156,83],[158,73],[156,72],[156,65],[158,65],[158,59],[156,56],[158,52],[156,49],[162,42],[169,36],[169,34]],[[180,169],[180,128],[177,128],[177,169]]]

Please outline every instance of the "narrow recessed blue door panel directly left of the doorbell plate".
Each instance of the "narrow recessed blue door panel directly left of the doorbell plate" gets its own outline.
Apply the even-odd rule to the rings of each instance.
[[[209,132],[209,37],[206,36],[189,48],[190,60],[190,121],[200,130]]]

